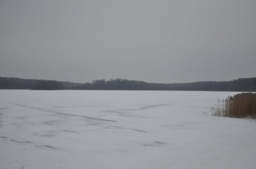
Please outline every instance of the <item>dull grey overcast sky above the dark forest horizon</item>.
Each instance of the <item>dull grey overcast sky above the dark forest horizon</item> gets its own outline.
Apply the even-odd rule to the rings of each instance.
[[[0,0],[0,76],[256,77],[256,1]]]

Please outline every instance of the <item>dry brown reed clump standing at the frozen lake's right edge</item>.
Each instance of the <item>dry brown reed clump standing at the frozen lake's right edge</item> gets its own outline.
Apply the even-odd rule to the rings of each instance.
[[[210,108],[212,116],[256,119],[256,93],[240,93],[219,100]]]

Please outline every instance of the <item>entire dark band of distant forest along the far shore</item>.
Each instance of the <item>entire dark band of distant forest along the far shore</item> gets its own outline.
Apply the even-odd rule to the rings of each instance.
[[[190,83],[148,83],[121,78],[93,80],[91,83],[73,83],[56,80],[0,77],[0,89],[256,92],[256,77],[239,78],[232,81],[199,81]]]

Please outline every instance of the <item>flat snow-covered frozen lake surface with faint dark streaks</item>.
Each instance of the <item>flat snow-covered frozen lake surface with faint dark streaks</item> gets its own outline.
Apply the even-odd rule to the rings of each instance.
[[[256,122],[204,114],[234,94],[0,90],[0,168],[255,168]]]

